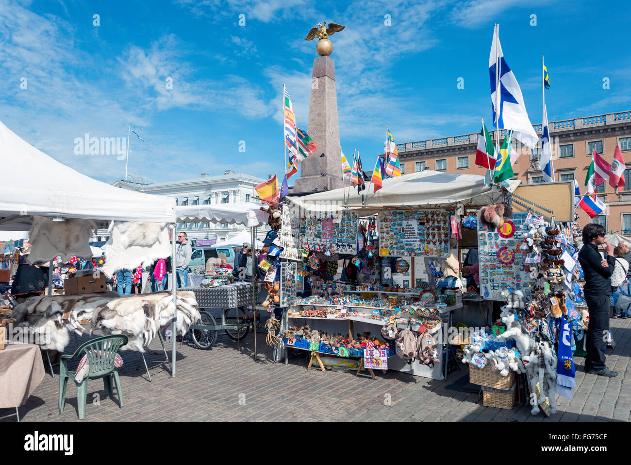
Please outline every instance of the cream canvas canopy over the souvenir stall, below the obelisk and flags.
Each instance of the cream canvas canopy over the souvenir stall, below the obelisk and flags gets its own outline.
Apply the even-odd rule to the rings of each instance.
[[[519,183],[520,181],[508,181],[508,190],[514,191]],[[383,187],[377,193],[374,193],[374,186],[370,186],[370,189],[368,185],[366,187],[363,196],[365,198],[366,195],[369,195],[367,210],[371,209],[370,205],[383,207],[435,205],[446,207],[475,197],[479,197],[476,201],[483,204],[490,201],[491,193],[495,194],[495,198],[498,196],[497,191],[485,186],[484,176],[432,170],[385,179]],[[348,195],[348,188],[346,195]],[[345,195],[343,189],[336,189],[303,197],[287,198],[290,202],[296,203],[306,210],[327,211],[343,209]],[[351,187],[348,205],[360,205],[361,203],[362,196],[357,193],[357,188]]]

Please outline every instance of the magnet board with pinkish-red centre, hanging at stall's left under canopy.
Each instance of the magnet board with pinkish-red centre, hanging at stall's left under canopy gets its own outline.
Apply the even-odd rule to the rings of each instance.
[[[304,212],[300,221],[300,248],[306,251],[357,253],[356,212]]]

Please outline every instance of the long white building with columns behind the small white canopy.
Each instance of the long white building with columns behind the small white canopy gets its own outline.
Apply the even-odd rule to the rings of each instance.
[[[218,203],[250,202],[254,195],[254,186],[264,181],[266,179],[227,170],[219,176],[209,176],[207,173],[202,173],[199,178],[168,181],[167,183],[134,185],[125,181],[116,181],[112,185],[129,190],[134,190],[135,187],[137,191],[147,194],[174,197],[177,198],[177,205],[216,205]],[[178,231],[186,231],[189,240],[217,239],[217,241],[223,241],[232,238],[243,229],[244,226],[238,224],[203,222],[178,224]],[[257,230],[257,236],[262,240],[268,228],[261,227],[260,229],[260,231]],[[107,229],[98,231],[100,240],[106,240],[107,236]]]

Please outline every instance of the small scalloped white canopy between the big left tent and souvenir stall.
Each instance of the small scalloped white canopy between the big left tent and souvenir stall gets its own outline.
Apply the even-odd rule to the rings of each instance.
[[[177,207],[178,222],[213,222],[258,227],[268,224],[269,214],[261,211],[261,202],[217,203]],[[249,241],[248,241],[249,242]]]

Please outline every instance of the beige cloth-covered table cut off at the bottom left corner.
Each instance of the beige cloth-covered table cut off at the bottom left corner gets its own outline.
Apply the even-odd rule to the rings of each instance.
[[[7,344],[0,351],[0,408],[18,408],[44,378],[44,362],[35,344]]]

